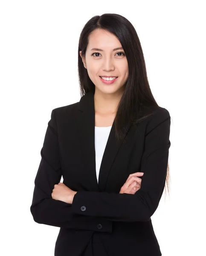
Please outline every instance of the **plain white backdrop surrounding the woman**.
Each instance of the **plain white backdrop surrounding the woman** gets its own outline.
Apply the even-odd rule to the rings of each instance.
[[[59,228],[35,223],[30,212],[34,179],[52,109],[80,100],[81,29],[104,13],[123,15],[135,27],[152,93],[171,116],[170,196],[163,192],[151,217],[162,256],[206,255],[203,6],[200,0],[0,1],[0,255],[54,255]]]

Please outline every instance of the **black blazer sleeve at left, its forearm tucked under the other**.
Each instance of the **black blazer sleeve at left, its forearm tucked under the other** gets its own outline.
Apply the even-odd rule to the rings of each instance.
[[[112,221],[97,216],[76,215],[72,212],[72,204],[52,198],[54,185],[60,182],[61,177],[57,124],[55,111],[52,110],[41,148],[41,162],[35,177],[30,207],[33,219],[39,224],[92,231],[100,231],[98,224],[103,223],[101,231],[111,232]]]

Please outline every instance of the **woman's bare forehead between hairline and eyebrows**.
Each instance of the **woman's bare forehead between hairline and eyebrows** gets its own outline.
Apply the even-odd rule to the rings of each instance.
[[[100,48],[103,50],[111,50],[116,47],[121,47],[119,39],[103,29],[95,29],[89,36],[88,50],[92,48]]]

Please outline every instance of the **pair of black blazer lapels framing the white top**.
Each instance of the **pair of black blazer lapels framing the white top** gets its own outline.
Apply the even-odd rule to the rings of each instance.
[[[95,158],[95,108],[94,93],[89,92],[81,97],[77,111],[77,128],[80,140],[81,157],[84,161],[85,172],[90,177],[92,191],[104,192],[113,161],[122,144],[117,142],[114,131],[114,122],[110,130],[107,145],[102,157],[99,170],[99,184],[96,177],[96,158]],[[129,129],[130,125],[127,126]]]

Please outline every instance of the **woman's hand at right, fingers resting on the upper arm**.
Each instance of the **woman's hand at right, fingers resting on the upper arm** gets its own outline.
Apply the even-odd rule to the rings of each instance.
[[[135,172],[129,175],[125,184],[121,187],[119,194],[135,194],[141,188],[141,178],[139,176],[144,175],[144,172]]]

